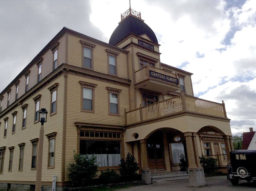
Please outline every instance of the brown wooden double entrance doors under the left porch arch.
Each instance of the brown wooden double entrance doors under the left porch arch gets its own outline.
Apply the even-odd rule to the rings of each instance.
[[[147,140],[148,167],[150,170],[164,169],[163,133],[153,133]]]

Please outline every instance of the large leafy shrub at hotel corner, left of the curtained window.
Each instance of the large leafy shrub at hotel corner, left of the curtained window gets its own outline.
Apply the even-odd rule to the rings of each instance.
[[[98,165],[96,163],[96,156],[88,157],[87,155],[76,154],[74,151],[74,160],[76,163],[69,164],[68,178],[72,185],[84,186],[88,185],[89,181],[93,179],[98,172]]]

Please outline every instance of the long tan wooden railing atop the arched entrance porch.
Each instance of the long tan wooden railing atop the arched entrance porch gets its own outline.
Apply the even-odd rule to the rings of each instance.
[[[227,118],[225,104],[207,101],[196,97],[185,95],[157,102],[146,107],[140,107],[131,111],[125,111],[125,124],[131,125],[139,122],[149,121],[180,112],[192,112],[210,116]]]

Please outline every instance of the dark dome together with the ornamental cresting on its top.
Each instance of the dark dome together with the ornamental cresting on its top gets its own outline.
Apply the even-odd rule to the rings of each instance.
[[[121,21],[112,33],[109,44],[116,45],[131,33],[138,36],[147,35],[152,42],[158,44],[155,33],[141,19],[140,12],[134,11],[130,7],[124,14],[121,14]]]

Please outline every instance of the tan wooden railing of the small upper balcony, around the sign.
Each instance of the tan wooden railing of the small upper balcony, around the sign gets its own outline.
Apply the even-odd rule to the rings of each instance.
[[[170,82],[168,81],[168,79],[164,79],[164,78],[156,78],[156,77],[152,77],[150,76],[150,71],[153,71],[155,73],[159,73],[159,74],[162,74],[163,77],[166,77],[166,76],[169,76],[171,78],[176,78],[177,79],[177,76],[176,74],[173,74],[171,72],[167,72],[167,71],[164,71],[164,70],[161,70],[159,68],[155,68],[155,67],[151,67],[151,66],[147,66],[145,68],[141,68],[140,70],[137,70],[135,71],[135,76],[136,76],[136,81],[135,81],[135,84],[138,84],[140,82],[143,82],[145,80],[148,80],[148,79],[154,79],[154,80],[157,80],[157,81],[160,81],[160,82]],[[177,79],[178,80],[178,79]],[[175,84],[175,83],[172,83],[172,84]],[[178,83],[179,84],[179,83]],[[175,84],[176,85],[176,84]]]

